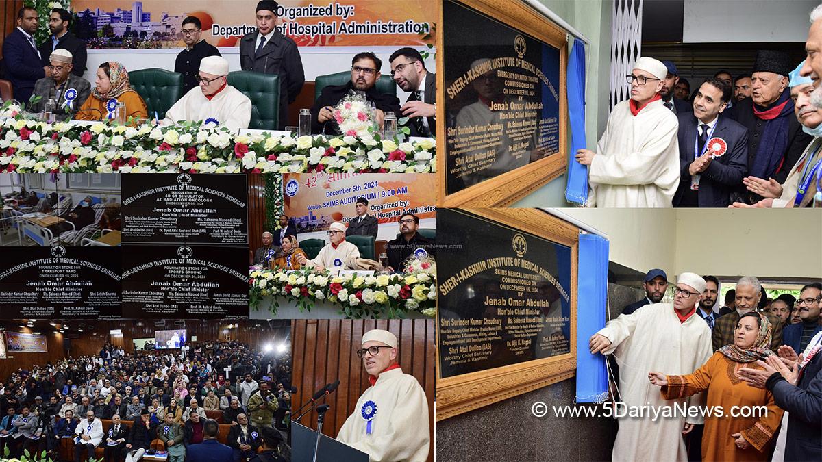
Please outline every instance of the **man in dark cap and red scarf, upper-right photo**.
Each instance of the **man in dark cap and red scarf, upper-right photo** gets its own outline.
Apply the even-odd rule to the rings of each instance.
[[[787,75],[792,71],[787,53],[760,50],[756,53],[751,74],[753,93],[742,99],[729,114],[748,129],[748,174],[780,184],[813,140],[802,132],[793,112],[793,101],[787,87]],[[740,185],[748,203],[762,199]]]

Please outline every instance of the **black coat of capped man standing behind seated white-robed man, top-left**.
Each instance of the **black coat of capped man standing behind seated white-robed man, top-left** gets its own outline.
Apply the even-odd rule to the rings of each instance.
[[[275,30],[271,39],[256,52],[260,31],[246,34],[240,39],[240,67],[243,71],[279,75],[279,127],[289,125],[289,104],[297,99],[306,76],[302,59],[293,39]]]

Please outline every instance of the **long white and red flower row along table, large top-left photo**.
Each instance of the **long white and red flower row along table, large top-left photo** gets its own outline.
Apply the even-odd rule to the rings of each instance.
[[[21,114],[9,103],[0,109],[0,173],[428,173],[436,164],[432,139],[237,135],[201,122],[49,124]]]

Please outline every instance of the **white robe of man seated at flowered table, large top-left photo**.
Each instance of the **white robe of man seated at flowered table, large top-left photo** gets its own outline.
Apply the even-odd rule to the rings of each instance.
[[[205,122],[208,118],[214,118],[219,127],[248,128],[252,120],[252,100],[231,85],[225,85],[209,100],[197,86],[174,103],[165,113],[163,123]]]

